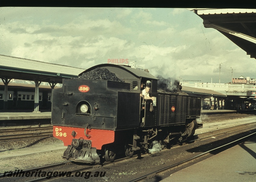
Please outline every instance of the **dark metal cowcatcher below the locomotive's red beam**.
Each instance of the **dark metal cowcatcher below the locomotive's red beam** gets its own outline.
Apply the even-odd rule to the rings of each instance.
[[[96,148],[92,147],[92,141],[83,138],[73,139],[62,157],[77,162],[100,163],[100,157]]]

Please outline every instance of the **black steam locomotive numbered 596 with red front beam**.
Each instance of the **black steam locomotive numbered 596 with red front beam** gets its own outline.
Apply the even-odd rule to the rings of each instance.
[[[145,70],[101,64],[77,78],[63,79],[53,90],[53,136],[68,146],[63,156],[76,162],[114,161],[116,154],[184,142],[202,124],[201,98],[180,90],[157,88],[158,78]],[[144,84],[143,84],[144,83]],[[150,86],[150,96],[140,96]]]

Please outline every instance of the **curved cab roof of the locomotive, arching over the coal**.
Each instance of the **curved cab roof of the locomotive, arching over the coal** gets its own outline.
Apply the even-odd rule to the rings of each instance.
[[[148,73],[147,71],[144,71],[142,69],[136,69],[136,68],[132,68],[132,67],[125,66],[125,65],[115,65],[115,64],[108,64],[108,63],[90,67],[90,68],[86,69],[85,71],[83,71],[82,73],[80,73],[79,76],[82,75],[83,73],[92,71],[99,67],[107,68],[110,72],[115,73],[116,76],[120,79],[127,79],[129,77],[135,76],[137,78],[144,77],[144,78],[158,80],[158,78],[156,78],[155,76],[151,75],[150,73]]]

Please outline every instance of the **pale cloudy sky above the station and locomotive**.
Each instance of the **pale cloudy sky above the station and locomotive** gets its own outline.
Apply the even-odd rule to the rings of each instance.
[[[128,59],[152,75],[228,83],[256,60],[185,8],[0,7],[0,54],[87,69]],[[221,69],[219,65],[221,64]]]

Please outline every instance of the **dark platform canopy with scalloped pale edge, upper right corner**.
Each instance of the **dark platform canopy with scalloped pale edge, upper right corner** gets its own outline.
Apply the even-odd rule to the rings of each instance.
[[[214,28],[256,59],[256,9],[190,8],[205,28]]]

